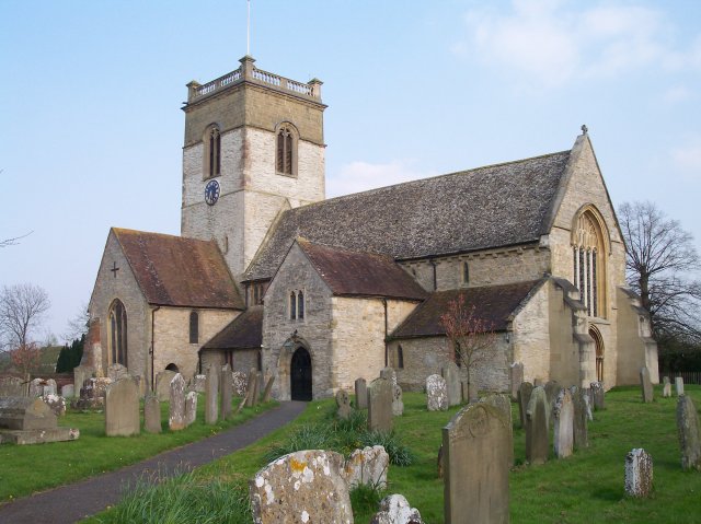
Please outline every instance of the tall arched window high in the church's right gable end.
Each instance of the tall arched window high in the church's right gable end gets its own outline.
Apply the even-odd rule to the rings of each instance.
[[[589,316],[605,318],[609,235],[606,223],[594,206],[577,213],[572,232],[573,282]]]

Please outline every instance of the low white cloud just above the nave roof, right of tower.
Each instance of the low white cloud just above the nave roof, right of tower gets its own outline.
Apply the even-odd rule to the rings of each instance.
[[[341,166],[337,174],[326,179],[329,197],[391,186],[402,182],[435,176],[435,172],[421,172],[412,167],[412,161],[395,160],[386,164],[355,161]]]

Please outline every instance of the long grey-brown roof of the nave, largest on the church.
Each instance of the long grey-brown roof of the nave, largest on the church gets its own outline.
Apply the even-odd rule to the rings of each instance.
[[[563,151],[287,210],[244,278],[271,278],[299,236],[397,259],[537,242],[568,160]]]

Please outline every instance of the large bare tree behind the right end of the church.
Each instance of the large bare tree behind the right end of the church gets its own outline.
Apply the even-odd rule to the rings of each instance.
[[[693,237],[653,202],[623,203],[619,220],[627,244],[629,284],[650,313],[658,340],[701,342],[701,268]]]

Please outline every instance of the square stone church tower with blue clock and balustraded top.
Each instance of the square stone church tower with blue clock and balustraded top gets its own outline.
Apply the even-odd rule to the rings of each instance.
[[[280,211],[324,199],[321,84],[273,74],[243,57],[187,84],[182,236],[215,238],[234,279]]]

